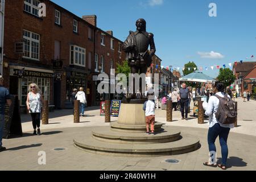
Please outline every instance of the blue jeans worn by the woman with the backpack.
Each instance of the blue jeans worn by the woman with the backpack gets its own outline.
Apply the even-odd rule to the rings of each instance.
[[[217,137],[220,139],[221,145],[221,156],[222,156],[222,165],[226,166],[226,160],[228,159],[228,136],[229,136],[230,128],[221,127],[219,123],[216,123],[213,127],[209,128],[208,131],[208,145],[209,151],[216,152],[215,140]]]

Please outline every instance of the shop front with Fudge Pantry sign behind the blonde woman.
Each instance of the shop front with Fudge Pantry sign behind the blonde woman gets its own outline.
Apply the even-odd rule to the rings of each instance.
[[[20,109],[26,112],[26,100],[29,85],[34,83],[39,86],[44,100],[53,104],[52,96],[53,71],[29,67],[10,67],[10,93],[18,95]]]

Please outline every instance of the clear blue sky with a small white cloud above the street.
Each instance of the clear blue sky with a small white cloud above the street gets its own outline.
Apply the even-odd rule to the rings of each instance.
[[[216,77],[216,65],[255,61],[250,59],[256,57],[255,0],[52,1],[80,17],[97,15],[97,26],[113,30],[122,41],[136,29],[138,18],[146,19],[147,31],[155,35],[156,55],[165,67],[183,68],[194,61]],[[209,16],[210,3],[216,3],[217,17]],[[213,71],[210,66],[215,66]]]

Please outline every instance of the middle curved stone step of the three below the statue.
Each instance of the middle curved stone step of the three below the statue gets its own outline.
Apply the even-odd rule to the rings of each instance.
[[[119,133],[112,131],[109,127],[101,127],[94,129],[92,134],[93,138],[102,142],[123,144],[167,143],[181,139],[179,131],[165,129],[156,135],[146,135],[146,133]]]

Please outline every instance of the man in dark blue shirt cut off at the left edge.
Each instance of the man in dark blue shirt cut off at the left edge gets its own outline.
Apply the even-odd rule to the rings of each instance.
[[[3,128],[5,127],[5,104],[11,105],[8,89],[3,86],[3,77],[0,75],[0,152],[6,148],[2,146]]]

